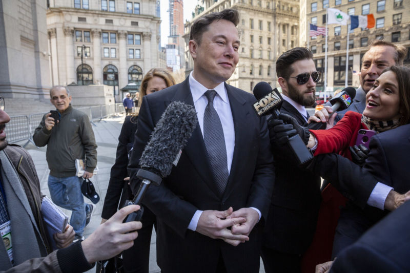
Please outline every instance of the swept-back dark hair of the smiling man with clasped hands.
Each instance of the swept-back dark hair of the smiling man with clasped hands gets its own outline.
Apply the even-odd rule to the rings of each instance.
[[[201,43],[202,34],[208,30],[209,25],[215,20],[228,20],[235,27],[239,24],[239,12],[234,9],[224,9],[221,12],[212,12],[210,14],[199,17],[191,26],[189,39]]]

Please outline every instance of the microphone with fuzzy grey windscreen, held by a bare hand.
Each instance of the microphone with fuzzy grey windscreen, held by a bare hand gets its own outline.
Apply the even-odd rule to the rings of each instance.
[[[139,190],[132,201],[125,202],[125,206],[139,205],[149,185],[153,183],[159,186],[162,178],[171,173],[172,164],[178,163],[182,149],[191,137],[197,122],[198,118],[192,105],[179,101],[169,104],[139,159],[140,169],[136,174],[142,180]],[[141,207],[128,215],[126,222],[139,221],[143,213],[144,208]]]

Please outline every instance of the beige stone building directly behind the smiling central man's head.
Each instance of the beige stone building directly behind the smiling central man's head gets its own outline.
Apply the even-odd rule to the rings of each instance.
[[[203,3],[203,4],[202,4]],[[283,52],[299,46],[299,0],[200,0],[193,18],[185,24],[186,75],[193,69],[189,53],[189,32],[193,21],[203,14],[234,8],[240,13],[239,62],[227,82],[252,92],[259,81],[276,87],[275,61]]]

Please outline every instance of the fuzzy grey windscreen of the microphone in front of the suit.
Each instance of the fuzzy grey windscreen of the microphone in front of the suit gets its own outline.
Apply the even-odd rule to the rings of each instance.
[[[198,118],[192,105],[173,101],[162,113],[139,160],[142,169],[157,170],[162,178],[171,173],[172,163],[187,144]]]

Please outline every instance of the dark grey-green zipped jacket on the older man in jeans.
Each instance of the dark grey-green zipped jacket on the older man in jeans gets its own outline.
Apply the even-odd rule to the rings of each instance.
[[[47,163],[50,175],[75,176],[75,159],[87,159],[86,171],[92,173],[97,165],[97,144],[88,116],[71,105],[61,114],[57,124],[49,131],[46,115],[34,131],[37,146],[47,145]]]

